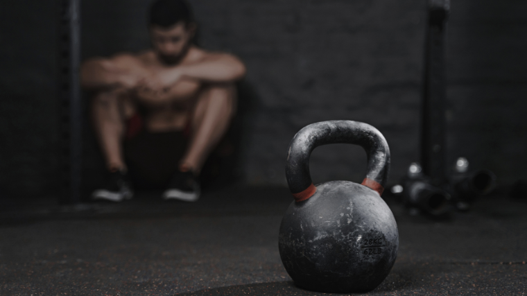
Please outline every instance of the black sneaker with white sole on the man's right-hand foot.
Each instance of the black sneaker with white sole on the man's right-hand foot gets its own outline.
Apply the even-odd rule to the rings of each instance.
[[[198,198],[200,198],[200,184],[190,171],[175,173],[169,184],[169,189],[163,193],[164,200],[195,202]]]

